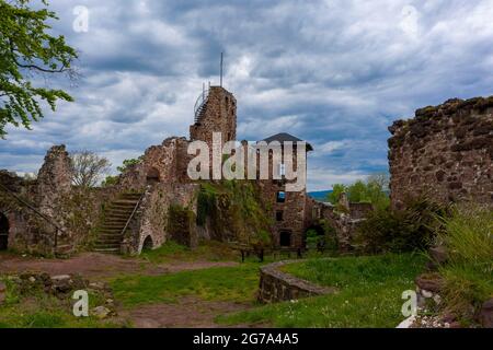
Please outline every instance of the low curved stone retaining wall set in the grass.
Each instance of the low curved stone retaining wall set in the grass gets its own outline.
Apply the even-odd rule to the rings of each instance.
[[[316,285],[279,270],[290,262],[294,261],[279,261],[261,267],[257,294],[260,302],[275,303],[335,292],[334,289]]]

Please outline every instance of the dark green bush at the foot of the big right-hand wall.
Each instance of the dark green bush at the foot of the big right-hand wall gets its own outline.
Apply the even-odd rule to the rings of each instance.
[[[360,252],[412,252],[428,248],[436,236],[438,215],[447,208],[426,196],[408,200],[403,210],[377,209],[358,226],[356,243]]]

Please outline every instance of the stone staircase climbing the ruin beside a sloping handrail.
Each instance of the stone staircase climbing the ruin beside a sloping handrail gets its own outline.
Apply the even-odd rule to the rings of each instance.
[[[142,194],[122,194],[106,209],[104,222],[100,226],[94,252],[118,254],[128,219]]]

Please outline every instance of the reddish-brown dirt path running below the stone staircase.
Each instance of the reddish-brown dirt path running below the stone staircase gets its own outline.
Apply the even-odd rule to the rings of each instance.
[[[108,278],[126,273],[162,275],[237,265],[238,262],[236,261],[173,261],[151,264],[138,258],[126,259],[116,255],[99,253],[83,253],[64,260],[0,255],[0,273],[19,273],[23,271],[47,272],[51,276],[80,273],[89,279]]]

